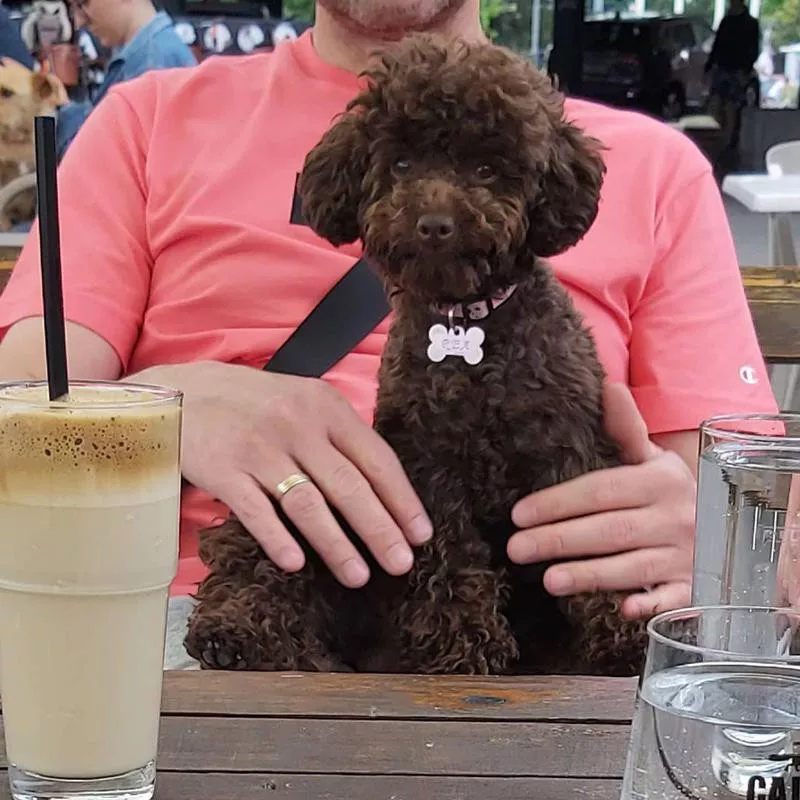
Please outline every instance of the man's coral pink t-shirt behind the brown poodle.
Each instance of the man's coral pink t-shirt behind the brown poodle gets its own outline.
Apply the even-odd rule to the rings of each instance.
[[[263,366],[360,255],[290,222],[306,153],[359,88],[311,34],[274,53],[213,58],[113,89],[61,166],[67,317],[98,333],[126,373],[215,359]],[[695,429],[774,400],[709,165],[679,133],[568,101],[607,147],[589,234],[553,260],[612,380],[651,433]],[[41,314],[34,229],[0,299],[0,336]],[[326,376],[371,418],[382,324]],[[203,574],[199,525],[225,513],[183,502],[173,591]]]

